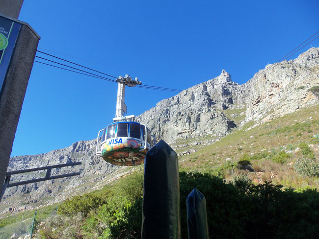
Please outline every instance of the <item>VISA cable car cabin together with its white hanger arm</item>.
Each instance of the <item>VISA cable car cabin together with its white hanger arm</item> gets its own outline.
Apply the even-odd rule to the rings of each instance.
[[[111,164],[135,166],[144,162],[145,154],[156,143],[155,137],[145,124],[134,121],[134,115],[124,116],[127,110],[124,103],[125,85],[133,87],[141,82],[129,75],[120,76],[116,81],[116,117],[113,123],[99,131],[95,154]]]

